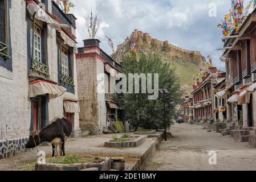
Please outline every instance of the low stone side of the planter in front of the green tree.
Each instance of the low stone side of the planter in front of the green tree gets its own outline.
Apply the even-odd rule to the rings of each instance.
[[[132,136],[134,137],[134,136]],[[105,142],[105,147],[117,147],[117,148],[128,148],[140,146],[147,136],[140,136],[130,142]]]

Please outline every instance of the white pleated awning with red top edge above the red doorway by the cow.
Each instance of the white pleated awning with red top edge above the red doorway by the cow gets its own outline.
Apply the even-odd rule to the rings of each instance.
[[[35,80],[29,83],[29,97],[36,97],[49,94],[50,99],[62,96],[66,92],[66,88],[58,86],[48,81]]]

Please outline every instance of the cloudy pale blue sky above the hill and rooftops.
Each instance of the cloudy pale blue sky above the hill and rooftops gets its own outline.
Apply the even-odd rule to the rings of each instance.
[[[200,51],[207,57],[211,55],[214,65],[224,69],[219,61],[223,47],[221,29],[217,28],[220,19],[229,13],[230,0],[72,0],[75,7],[71,10],[77,20],[77,40],[88,38],[85,18],[97,13],[102,20],[96,38],[100,47],[111,53],[105,35],[116,46],[123,43],[135,29],[148,32],[152,38],[168,40],[175,46]],[[247,6],[249,0],[245,0]],[[210,17],[210,3],[215,3],[217,16]]]

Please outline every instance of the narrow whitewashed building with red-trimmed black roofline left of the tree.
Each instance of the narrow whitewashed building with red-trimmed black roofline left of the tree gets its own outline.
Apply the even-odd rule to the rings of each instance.
[[[97,39],[84,40],[84,47],[78,51],[76,68],[81,108],[80,127],[101,134],[112,121],[119,119],[119,106],[115,101],[115,78],[121,71],[121,65],[100,48],[100,41]],[[105,76],[99,77],[102,74]],[[105,93],[98,92],[98,88],[102,87]]]

